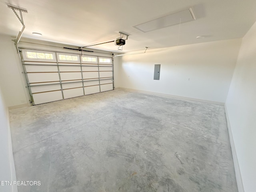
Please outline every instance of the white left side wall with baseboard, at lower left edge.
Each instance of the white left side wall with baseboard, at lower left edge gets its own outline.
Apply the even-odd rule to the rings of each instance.
[[[16,174],[12,154],[12,140],[8,108],[2,96],[0,84],[0,181],[15,181]],[[16,192],[17,186],[0,185],[0,192]]]

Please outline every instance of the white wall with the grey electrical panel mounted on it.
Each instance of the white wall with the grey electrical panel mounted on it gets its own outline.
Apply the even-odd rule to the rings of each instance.
[[[118,85],[224,104],[240,43],[223,40],[122,56]],[[154,64],[161,64],[160,80],[153,80]]]

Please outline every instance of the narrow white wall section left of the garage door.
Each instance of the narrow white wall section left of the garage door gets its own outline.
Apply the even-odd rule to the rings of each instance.
[[[24,106],[29,103],[21,74],[22,65],[12,39],[10,36],[0,35],[0,82],[8,107]]]

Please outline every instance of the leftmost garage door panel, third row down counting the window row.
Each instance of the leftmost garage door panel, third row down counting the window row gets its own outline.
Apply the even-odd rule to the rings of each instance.
[[[28,73],[28,81],[33,82],[49,82],[49,81],[59,81],[58,73]]]

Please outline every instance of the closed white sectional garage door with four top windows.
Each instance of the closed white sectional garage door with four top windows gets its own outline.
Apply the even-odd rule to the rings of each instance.
[[[22,49],[33,105],[113,90],[111,57]]]

